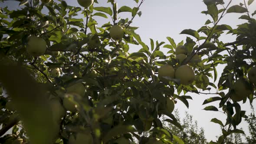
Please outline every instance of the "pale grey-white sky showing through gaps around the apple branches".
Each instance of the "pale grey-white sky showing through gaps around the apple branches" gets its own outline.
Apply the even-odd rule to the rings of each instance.
[[[95,7],[111,7],[109,3],[106,3],[107,0],[98,0],[100,4],[95,3]],[[121,6],[129,6],[136,7],[137,4],[134,0],[116,0],[118,2],[118,7]],[[140,0],[141,1],[141,0]],[[248,0],[246,0],[247,3]],[[76,0],[66,0],[69,5],[74,5],[79,7]],[[228,3],[229,0],[224,0],[224,2]],[[231,6],[234,4],[243,3],[243,0],[233,0]],[[2,5],[2,3],[1,3]],[[17,3],[10,1],[4,5],[8,7],[16,8],[18,7]],[[150,46],[150,40],[154,39],[154,41],[158,40],[159,42],[164,41],[168,43],[166,37],[171,36],[176,43],[181,42],[181,40],[185,40],[187,35],[180,35],[183,29],[199,29],[204,25],[207,19],[210,17],[205,16],[205,14],[201,14],[201,11],[207,10],[207,7],[204,5],[202,0],[145,0],[141,6],[142,15],[141,17],[136,16],[134,19],[134,23],[131,26],[138,26],[139,29],[136,30],[141,36],[141,39],[144,43]],[[256,2],[250,5],[249,10],[253,13],[256,10]],[[131,13],[121,13],[118,17],[121,18],[129,18],[131,19]],[[232,28],[236,28],[236,25],[244,23],[244,20],[238,20],[240,14],[237,13],[229,13],[220,21],[219,24],[228,24]],[[102,17],[94,17],[99,24],[107,23],[107,19]],[[225,35],[221,37],[224,42],[233,42],[235,37],[232,35]],[[130,46],[130,52],[138,51],[140,47],[138,46]],[[167,49],[161,49],[164,52],[167,52]],[[223,70],[223,66],[218,67],[218,75],[220,76]],[[214,91],[215,92],[215,91]],[[188,95],[188,94],[187,94]],[[181,118],[184,118],[184,111],[189,111],[190,115],[194,116],[194,120],[198,121],[198,125],[203,127],[205,130],[205,136],[208,141],[216,140],[216,136],[221,134],[221,130],[218,124],[210,122],[212,118],[218,118],[223,121],[226,120],[226,115],[220,112],[212,112],[212,111],[204,111],[202,110],[206,105],[202,105],[203,101],[207,98],[210,98],[214,95],[196,95],[190,93],[190,96],[193,97],[193,101],[190,100],[190,108],[187,109],[186,106],[181,102],[175,105],[175,107],[180,111]],[[240,102],[241,103],[241,102]],[[254,101],[253,105],[256,102]],[[210,105],[215,105],[218,107],[219,101],[214,102]],[[247,111],[247,115],[250,113],[249,102],[242,105],[242,110]],[[242,122],[238,128],[243,128],[243,130],[248,134],[246,122]],[[245,142],[245,139],[243,138]]]

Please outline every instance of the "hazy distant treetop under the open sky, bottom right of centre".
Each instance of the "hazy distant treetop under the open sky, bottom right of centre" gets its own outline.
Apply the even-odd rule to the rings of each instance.
[[[173,135],[180,137],[185,144],[208,144],[204,135],[204,129],[199,128],[197,121],[193,120],[192,115],[186,111],[185,117],[181,120],[179,111],[176,109],[174,116],[177,118],[177,122],[181,124],[182,131],[170,123],[165,123],[164,128],[171,131]],[[178,144],[175,140],[173,143]]]

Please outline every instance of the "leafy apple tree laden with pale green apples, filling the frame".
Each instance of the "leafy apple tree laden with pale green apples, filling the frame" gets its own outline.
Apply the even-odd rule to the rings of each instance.
[[[211,88],[218,92],[203,102],[204,110],[218,111],[209,103],[219,101],[226,121],[211,120],[223,126],[223,135],[210,144],[243,133],[236,128],[246,117],[238,102],[252,103],[256,85],[253,0],[233,6],[232,0],[203,0],[202,13],[211,19],[200,29],[181,31],[188,36],[180,43],[167,37],[167,43],[150,39],[149,46],[132,23],[146,0],[127,2],[137,7],[118,7],[116,0],[105,7],[97,0],[78,0],[79,7],[65,0],[17,1],[18,10],[0,8],[1,144],[132,144],[133,137],[139,144],[184,144],[163,121],[182,129],[172,114],[175,103],[189,107],[191,92]],[[243,13],[239,19],[247,22],[236,29],[220,25],[229,13]],[[223,43],[226,34],[236,40]],[[140,50],[130,53],[134,45]],[[221,64],[227,65],[217,81]]]

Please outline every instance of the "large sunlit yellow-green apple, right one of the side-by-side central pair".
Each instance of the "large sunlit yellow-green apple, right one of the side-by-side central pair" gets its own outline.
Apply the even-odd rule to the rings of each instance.
[[[181,65],[175,72],[175,78],[181,80],[182,85],[189,85],[195,79],[193,69],[188,65]]]

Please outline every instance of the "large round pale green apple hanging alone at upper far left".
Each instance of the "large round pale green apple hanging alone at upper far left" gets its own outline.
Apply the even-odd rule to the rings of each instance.
[[[31,56],[42,56],[46,51],[46,42],[43,38],[31,36],[26,50]]]

